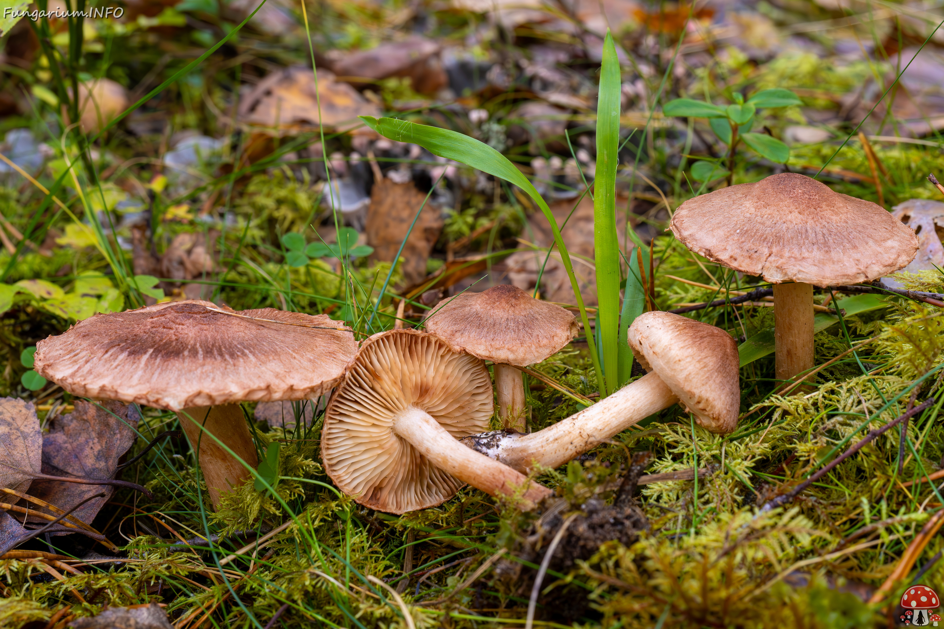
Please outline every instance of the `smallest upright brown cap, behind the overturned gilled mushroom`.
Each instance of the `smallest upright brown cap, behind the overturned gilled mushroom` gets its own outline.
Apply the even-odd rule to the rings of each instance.
[[[426,329],[455,351],[519,367],[560,351],[580,331],[573,314],[510,284],[444,299],[430,313]]]

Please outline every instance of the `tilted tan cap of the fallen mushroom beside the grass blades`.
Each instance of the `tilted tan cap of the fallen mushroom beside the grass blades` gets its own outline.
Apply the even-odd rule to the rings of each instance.
[[[741,404],[737,344],[724,330],[671,314],[644,312],[629,330],[636,360],[656,372],[713,433],[730,433]]]

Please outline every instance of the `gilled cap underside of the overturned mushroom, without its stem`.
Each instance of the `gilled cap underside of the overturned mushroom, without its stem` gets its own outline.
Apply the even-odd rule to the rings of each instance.
[[[456,439],[488,430],[492,381],[481,361],[416,330],[363,342],[325,413],[325,471],[358,503],[388,513],[441,505],[463,486],[396,436],[398,411],[415,406]]]

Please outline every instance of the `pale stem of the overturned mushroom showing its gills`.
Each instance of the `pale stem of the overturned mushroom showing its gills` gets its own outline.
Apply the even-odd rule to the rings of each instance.
[[[397,413],[394,432],[440,470],[489,495],[514,495],[518,488],[530,483],[522,496],[526,508],[551,495],[550,489],[529,481],[524,474],[466,448],[425,410],[408,406]]]

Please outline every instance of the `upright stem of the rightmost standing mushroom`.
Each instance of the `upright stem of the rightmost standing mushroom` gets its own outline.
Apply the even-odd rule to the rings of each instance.
[[[778,380],[813,369],[813,285],[773,285],[774,346]],[[802,392],[798,387],[797,392]]]

